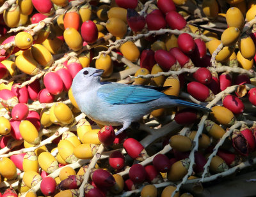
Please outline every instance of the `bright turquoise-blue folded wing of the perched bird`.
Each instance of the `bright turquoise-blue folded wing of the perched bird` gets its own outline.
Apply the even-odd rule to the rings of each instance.
[[[112,105],[144,103],[166,96],[147,87],[114,83],[102,85],[97,95]]]

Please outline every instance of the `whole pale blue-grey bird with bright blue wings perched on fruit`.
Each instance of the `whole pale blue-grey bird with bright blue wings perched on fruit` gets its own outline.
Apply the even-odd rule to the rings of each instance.
[[[103,69],[81,69],[71,89],[77,105],[87,117],[102,125],[123,125],[116,135],[157,108],[189,106],[211,112],[204,106],[159,92],[157,87],[100,82],[103,72]]]

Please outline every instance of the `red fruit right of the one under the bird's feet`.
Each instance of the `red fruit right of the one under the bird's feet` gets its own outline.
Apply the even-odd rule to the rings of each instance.
[[[134,138],[127,138],[124,141],[124,149],[132,159],[140,158],[141,152],[145,151],[143,145]]]

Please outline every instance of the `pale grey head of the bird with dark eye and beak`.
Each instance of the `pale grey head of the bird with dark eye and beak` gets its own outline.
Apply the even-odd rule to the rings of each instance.
[[[93,87],[100,83],[100,76],[104,69],[83,68],[79,71],[72,82],[72,91],[82,91],[82,88]]]

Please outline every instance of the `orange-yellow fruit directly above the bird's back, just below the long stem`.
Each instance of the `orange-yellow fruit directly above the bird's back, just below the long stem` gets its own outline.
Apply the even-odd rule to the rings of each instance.
[[[124,57],[131,62],[136,62],[140,57],[140,50],[133,41],[127,41],[122,44],[120,52],[122,52]]]

